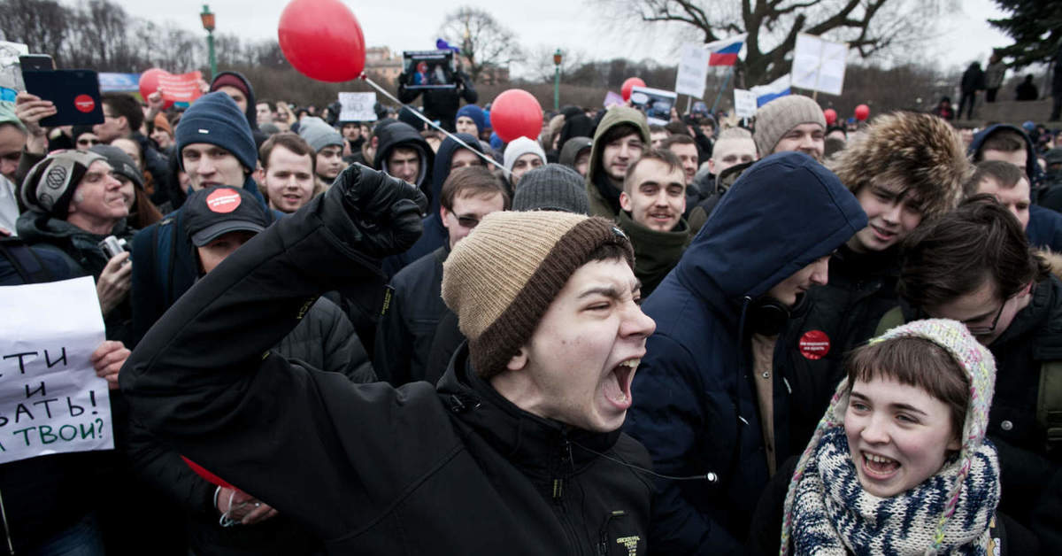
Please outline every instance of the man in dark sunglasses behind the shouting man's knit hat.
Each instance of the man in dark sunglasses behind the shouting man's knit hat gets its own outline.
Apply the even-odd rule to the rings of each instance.
[[[443,263],[483,217],[509,208],[509,196],[500,179],[473,165],[449,172],[440,204],[439,218],[447,241],[394,275],[393,294],[376,331],[373,368],[394,386],[442,373],[442,369],[427,369],[427,361],[439,321],[449,310],[441,297]]]

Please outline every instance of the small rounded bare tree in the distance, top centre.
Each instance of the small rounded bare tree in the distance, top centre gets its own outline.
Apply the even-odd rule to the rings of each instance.
[[[450,45],[461,48],[473,81],[489,68],[508,68],[509,64],[521,60],[516,35],[485,10],[457,9],[443,20],[439,34]]]

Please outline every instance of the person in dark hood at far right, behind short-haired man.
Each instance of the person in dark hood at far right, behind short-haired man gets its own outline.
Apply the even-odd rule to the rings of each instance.
[[[1038,190],[1043,170],[1037,163],[1037,148],[1022,128],[1007,123],[988,127],[974,135],[966,154],[974,161],[1005,161],[1017,166],[1029,178],[1032,190]],[[1029,242],[1040,249],[1062,252],[1062,215],[1038,204],[1029,206],[1029,225],[1025,233]]]

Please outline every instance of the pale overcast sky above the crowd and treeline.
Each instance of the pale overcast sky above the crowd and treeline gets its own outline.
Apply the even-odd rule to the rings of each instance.
[[[199,19],[201,2],[117,1],[133,15],[158,23],[169,20],[203,32]],[[212,0],[209,5],[217,14],[219,32],[262,39],[276,38],[280,12],[287,3],[287,0],[256,0],[252,9],[246,0]],[[587,0],[374,0],[345,3],[361,22],[369,46],[387,46],[395,51],[434,48],[439,27],[447,12],[458,5],[470,4],[493,14],[516,34],[523,46],[532,50],[539,46],[548,47],[550,51],[560,47],[562,50],[581,51],[590,60],[622,56],[632,60],[651,57],[662,64],[678,63],[675,45],[669,37],[670,33],[663,32],[663,28],[645,24],[643,31],[633,33],[633,36],[611,30],[601,22],[599,12],[602,4]],[[917,56],[920,60],[939,60],[942,69],[965,67],[974,60],[979,60],[983,66],[992,47],[1010,44],[1006,35],[991,29],[987,21],[1004,13],[991,0],[963,0],[956,4],[961,7],[942,18],[939,37]],[[520,73],[520,68],[513,70]]]

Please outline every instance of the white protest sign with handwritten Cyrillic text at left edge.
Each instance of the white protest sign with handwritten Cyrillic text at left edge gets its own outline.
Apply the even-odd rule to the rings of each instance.
[[[92,276],[0,287],[0,464],[109,450],[107,382],[89,356],[103,342]]]

